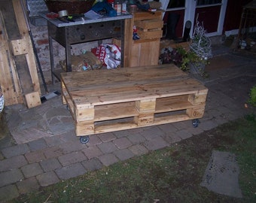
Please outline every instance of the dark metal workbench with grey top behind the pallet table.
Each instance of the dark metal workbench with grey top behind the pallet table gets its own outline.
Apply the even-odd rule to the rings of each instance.
[[[50,50],[50,68],[53,77],[59,79],[60,71],[54,70],[53,40],[65,47],[66,51],[66,71],[72,71],[71,45],[81,44],[89,41],[99,41],[107,38],[120,38],[121,40],[121,67],[125,64],[125,57],[128,57],[130,44],[124,39],[130,37],[130,19],[133,15],[121,14],[117,17],[100,17],[99,19],[89,19],[80,17],[74,19],[75,22],[65,23],[59,19],[50,19],[46,15],[41,15],[47,19],[47,29]],[[128,32],[126,32],[126,29]]]

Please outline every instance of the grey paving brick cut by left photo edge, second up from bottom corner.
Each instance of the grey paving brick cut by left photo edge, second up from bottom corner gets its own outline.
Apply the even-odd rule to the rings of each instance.
[[[0,174],[0,187],[12,183],[17,183],[20,180],[23,180],[23,178],[23,174],[18,168],[12,169],[11,171],[3,172]]]

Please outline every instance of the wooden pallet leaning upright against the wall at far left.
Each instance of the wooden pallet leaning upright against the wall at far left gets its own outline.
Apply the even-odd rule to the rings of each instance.
[[[0,85],[5,105],[41,105],[41,89],[26,16],[20,0],[1,2]]]

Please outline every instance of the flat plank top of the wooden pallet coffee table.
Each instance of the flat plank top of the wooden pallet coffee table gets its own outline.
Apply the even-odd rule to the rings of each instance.
[[[61,80],[77,107],[207,91],[202,83],[172,64],[65,72]]]

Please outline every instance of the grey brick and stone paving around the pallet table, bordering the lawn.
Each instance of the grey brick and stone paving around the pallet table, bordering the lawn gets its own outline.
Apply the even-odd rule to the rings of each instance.
[[[255,57],[223,47],[214,53],[206,69],[210,77],[197,77],[209,88],[197,128],[183,121],[93,135],[81,144],[60,96],[36,108],[6,107],[11,136],[0,141],[0,201],[167,147],[248,114],[251,109],[244,104],[256,84]]]

